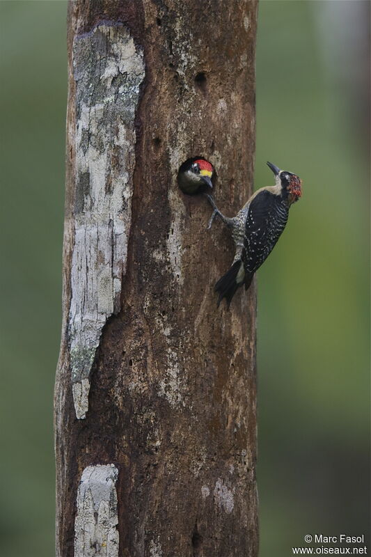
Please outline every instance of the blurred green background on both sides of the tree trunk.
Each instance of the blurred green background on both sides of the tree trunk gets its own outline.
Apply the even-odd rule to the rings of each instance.
[[[54,554],[64,1],[2,1],[1,554]],[[258,274],[260,557],[368,531],[369,3],[260,2],[256,185],[303,179]],[[244,557],[244,556],[242,556]]]

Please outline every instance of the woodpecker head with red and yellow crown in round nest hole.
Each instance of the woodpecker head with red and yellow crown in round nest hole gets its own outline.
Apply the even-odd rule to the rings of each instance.
[[[214,166],[203,157],[192,157],[180,166],[177,183],[184,194],[203,194],[212,188]]]

